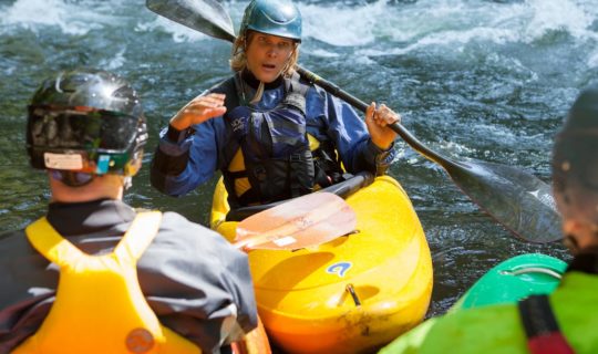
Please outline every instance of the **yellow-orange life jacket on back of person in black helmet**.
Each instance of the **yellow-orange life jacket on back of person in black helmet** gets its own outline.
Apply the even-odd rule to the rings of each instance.
[[[60,267],[56,299],[42,325],[13,353],[200,353],[161,325],[141,291],[136,263],[157,233],[162,214],[138,214],[112,253],[90,256],[41,218],[31,244]]]

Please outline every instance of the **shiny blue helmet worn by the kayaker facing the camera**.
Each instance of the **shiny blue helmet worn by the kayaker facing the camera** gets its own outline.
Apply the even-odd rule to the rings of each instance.
[[[239,34],[247,30],[301,42],[301,13],[287,0],[254,0],[245,9]]]

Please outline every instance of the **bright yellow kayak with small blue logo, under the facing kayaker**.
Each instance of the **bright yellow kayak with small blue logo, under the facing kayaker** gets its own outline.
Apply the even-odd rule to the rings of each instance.
[[[221,180],[212,228],[229,241],[236,223]],[[268,336],[290,353],[358,353],[419,324],[430,304],[432,260],[413,206],[389,176],[347,198],[357,232],[300,249],[249,252],[258,312]]]

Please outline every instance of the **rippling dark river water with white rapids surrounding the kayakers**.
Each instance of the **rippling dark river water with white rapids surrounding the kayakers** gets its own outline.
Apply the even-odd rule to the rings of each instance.
[[[227,1],[236,28],[248,1]],[[365,102],[386,103],[434,150],[550,180],[553,138],[598,74],[595,0],[300,1],[300,63]],[[229,43],[146,10],[143,0],[0,0],[0,231],[43,215],[45,176],[28,167],[25,105],[55,71],[101,67],[134,83],[148,118],[145,168],[126,200],[206,223],[214,181],[183,198],[150,186],[157,134],[184,103],[229,74]],[[561,259],[496,225],[442,168],[398,140],[390,174],[410,195],[432,250],[429,315],[486,270],[525,252]],[[375,202],[375,200],[372,200]]]

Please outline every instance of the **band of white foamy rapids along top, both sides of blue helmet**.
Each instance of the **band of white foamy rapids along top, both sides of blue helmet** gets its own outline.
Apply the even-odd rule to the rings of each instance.
[[[322,1],[323,2],[323,1]],[[248,1],[224,2],[235,30]],[[303,14],[303,35],[334,46],[371,46],[365,55],[403,54],[426,46],[458,50],[472,41],[496,44],[532,43],[551,31],[565,31],[580,41],[598,41],[592,29],[598,7],[590,0],[527,0],[515,3],[467,0],[422,0],[389,4],[386,0],[359,6],[340,1],[297,2]],[[144,1],[17,0],[0,6],[0,31],[52,25],[63,33],[82,35],[91,30],[135,21],[136,31],[165,31],[176,42],[195,42],[208,37],[161,18]],[[1,32],[0,32],[1,33]],[[316,51],[315,55],[329,55]],[[596,55],[588,63],[596,65]]]

